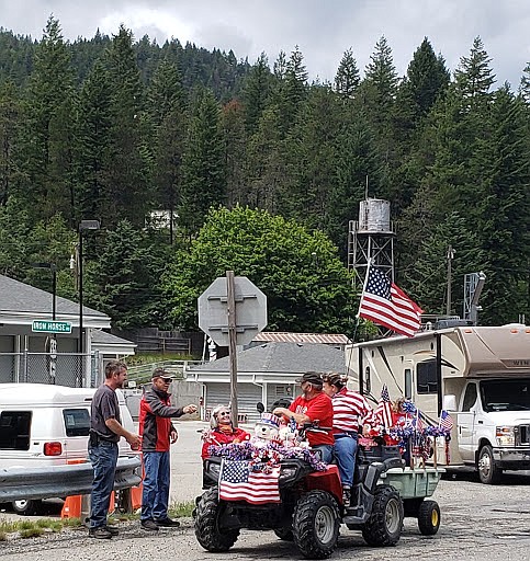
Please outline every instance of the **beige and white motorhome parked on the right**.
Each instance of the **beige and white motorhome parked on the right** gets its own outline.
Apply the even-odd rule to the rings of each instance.
[[[530,469],[530,328],[449,327],[413,337],[356,343],[346,350],[353,389],[410,399],[431,424],[453,420],[449,454],[438,463],[475,469],[483,483],[504,470]],[[352,374],[353,373],[353,374]]]

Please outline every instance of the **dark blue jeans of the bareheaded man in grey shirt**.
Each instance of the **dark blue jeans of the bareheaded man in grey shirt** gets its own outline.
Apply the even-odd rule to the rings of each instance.
[[[89,447],[89,458],[94,470],[90,495],[90,527],[106,526],[106,513],[114,490],[114,476],[117,463],[117,444],[100,440]]]

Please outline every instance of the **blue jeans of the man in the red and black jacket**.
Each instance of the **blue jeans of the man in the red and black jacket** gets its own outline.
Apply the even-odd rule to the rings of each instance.
[[[157,520],[168,517],[169,473],[169,451],[144,453],[140,519]]]

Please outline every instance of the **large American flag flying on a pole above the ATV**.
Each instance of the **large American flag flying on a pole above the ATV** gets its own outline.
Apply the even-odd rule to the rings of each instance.
[[[367,286],[361,295],[359,316],[379,325],[411,337],[421,325],[424,310],[383,271],[369,266]]]

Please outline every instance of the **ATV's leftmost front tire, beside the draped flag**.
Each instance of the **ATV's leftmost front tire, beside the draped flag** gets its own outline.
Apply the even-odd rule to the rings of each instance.
[[[239,529],[226,529],[219,524],[226,507],[219,504],[217,488],[205,491],[196,505],[195,537],[212,553],[228,551],[239,537]]]

